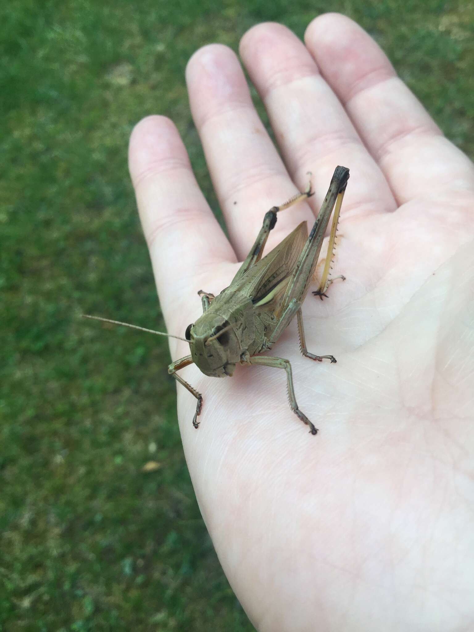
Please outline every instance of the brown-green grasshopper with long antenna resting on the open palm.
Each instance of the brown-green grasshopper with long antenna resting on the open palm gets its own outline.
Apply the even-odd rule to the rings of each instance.
[[[172,362],[168,367],[168,373],[173,375],[174,379],[183,384],[197,399],[196,412],[193,418],[195,428],[199,425],[197,417],[202,408],[202,395],[183,380],[176,371],[194,363],[205,375],[224,377],[232,375],[236,364],[239,363],[241,365],[283,368],[286,371],[291,410],[310,427],[311,434],[317,433],[317,428],[301,412],[296,403],[289,360],[260,356],[259,354],[274,346],[296,314],[301,353],[318,362],[321,362],[323,358],[336,362],[336,358],[332,355],[317,356],[308,351],[305,343],[301,305],[312,282],[324,234],[329,224],[332,209],[336,204],[321,283],[319,289],[313,294],[320,297],[326,296],[325,290],[334,281],[334,279],[328,280],[327,277],[336,238],[339,212],[348,179],[349,169],[336,167],[329,190],[309,236],[307,222],[301,222],[288,237],[262,258],[269,233],[276,224],[277,213],[288,209],[300,200],[311,197],[313,195],[311,184],[303,193],[298,193],[285,204],[275,206],[267,211],[257,240],[255,240],[247,258],[240,266],[229,287],[223,289],[217,296],[204,291],[198,292],[202,300],[203,314],[196,322],[188,325],[185,332],[185,340],[190,344],[191,355]],[[344,277],[341,278],[344,279]],[[128,325],[95,316],[88,316],[88,318]],[[137,327],[137,325],[128,326],[162,336],[170,335]]]

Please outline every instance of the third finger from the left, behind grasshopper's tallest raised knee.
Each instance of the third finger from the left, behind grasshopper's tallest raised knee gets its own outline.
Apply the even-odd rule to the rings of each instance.
[[[296,35],[279,24],[260,24],[245,33],[240,54],[264,101],[289,173],[310,169],[315,174],[318,204],[334,167],[341,164],[351,170],[343,216],[394,210],[386,179]]]

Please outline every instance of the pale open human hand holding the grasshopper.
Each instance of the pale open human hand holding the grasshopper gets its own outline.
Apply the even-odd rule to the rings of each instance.
[[[367,33],[327,14],[305,44],[287,28],[245,33],[241,61],[283,160],[253,109],[240,61],[220,45],[186,69],[191,111],[229,240],[173,123],[143,119],[130,171],[167,329],[183,336],[245,259],[265,211],[303,190],[266,252],[311,226],[334,167],[351,178],[328,289],[268,355],[285,376],[181,371],[178,418],[195,492],[238,599],[265,632],[474,628],[474,166],[449,142]],[[317,288],[317,284],[313,289]],[[152,324],[145,323],[152,326]],[[146,334],[137,334],[143,335]],[[188,355],[171,339],[173,360]],[[166,367],[164,367],[166,372]]]

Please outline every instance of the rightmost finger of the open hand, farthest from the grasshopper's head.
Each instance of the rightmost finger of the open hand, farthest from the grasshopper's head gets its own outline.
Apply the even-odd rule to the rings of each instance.
[[[319,16],[308,26],[305,42],[398,202],[453,183],[473,186],[472,163],[442,135],[354,21],[336,13]]]

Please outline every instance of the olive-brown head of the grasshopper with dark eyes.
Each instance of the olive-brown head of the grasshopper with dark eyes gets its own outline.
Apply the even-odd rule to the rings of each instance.
[[[185,334],[193,362],[204,375],[232,375],[240,360],[240,341],[233,325],[216,313],[204,313]]]

